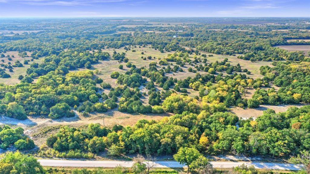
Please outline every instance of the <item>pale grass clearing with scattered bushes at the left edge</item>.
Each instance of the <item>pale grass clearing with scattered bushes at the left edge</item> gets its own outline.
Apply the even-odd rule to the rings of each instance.
[[[28,51],[26,51],[27,52],[27,55],[28,56],[30,56],[31,55],[31,52],[28,52]],[[13,69],[13,72],[9,72],[8,71],[8,69],[6,69],[6,71],[5,72],[7,72],[8,74],[10,74],[10,78],[0,78],[0,83],[4,83],[4,84],[6,84],[6,85],[15,85],[15,84],[17,84],[17,83],[19,83],[19,81],[20,80],[18,80],[18,76],[19,75],[26,75],[26,70],[27,70],[27,68],[29,68],[30,67],[30,64],[31,63],[41,63],[42,62],[42,60],[44,59],[44,58],[40,58],[40,59],[34,59],[33,60],[33,62],[29,62],[28,63],[28,65],[24,65],[24,60],[30,60],[31,59],[31,57],[20,57],[19,55],[18,55],[18,51],[8,51],[7,53],[3,53],[5,56],[7,56],[7,55],[10,55],[10,56],[12,56],[12,55],[14,55],[14,58],[13,57],[11,57],[12,58],[12,60],[11,61],[9,61],[7,58],[1,58],[1,59],[4,59],[5,61],[4,61],[4,64],[7,64],[8,62],[11,62],[11,64],[14,64],[14,62],[16,61],[16,60],[19,60],[20,61],[20,63],[22,63],[23,64],[23,67],[14,67],[14,69]],[[2,62],[1,62],[2,63]]]

